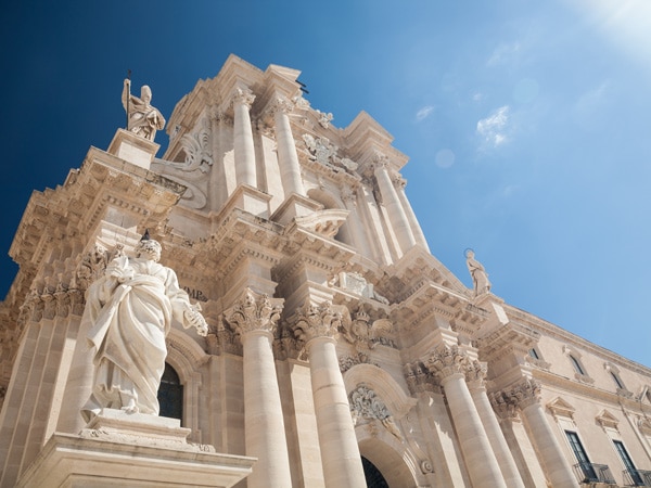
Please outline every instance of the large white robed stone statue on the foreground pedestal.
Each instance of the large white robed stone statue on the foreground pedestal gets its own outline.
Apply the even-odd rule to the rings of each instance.
[[[87,422],[102,408],[157,415],[173,319],[199,335],[208,331],[176,273],[158,264],[161,244],[145,232],[136,253],[114,258],[87,291],[81,326],[89,328],[94,364],[92,394],[81,409]]]

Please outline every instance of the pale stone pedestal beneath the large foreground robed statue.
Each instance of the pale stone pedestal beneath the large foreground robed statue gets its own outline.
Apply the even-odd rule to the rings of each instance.
[[[176,419],[104,409],[78,435],[55,433],[17,487],[231,487],[255,459],[189,444]]]

